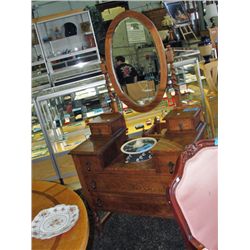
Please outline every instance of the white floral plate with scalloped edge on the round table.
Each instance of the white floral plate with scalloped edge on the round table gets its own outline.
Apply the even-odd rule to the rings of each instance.
[[[31,224],[32,237],[49,239],[69,231],[79,218],[75,205],[60,204],[40,211]]]

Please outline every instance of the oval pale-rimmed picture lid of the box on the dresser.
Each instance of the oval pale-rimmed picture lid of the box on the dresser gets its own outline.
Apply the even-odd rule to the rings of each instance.
[[[152,137],[141,137],[124,143],[121,146],[121,151],[125,154],[141,154],[149,151],[157,140]]]

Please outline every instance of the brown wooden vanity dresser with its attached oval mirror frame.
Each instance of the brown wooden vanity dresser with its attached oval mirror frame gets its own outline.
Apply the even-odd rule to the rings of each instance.
[[[122,41],[128,41],[128,37],[120,39],[120,36],[127,34],[123,30],[125,23],[136,23],[144,29],[147,39],[150,40],[142,42],[138,50],[143,52],[142,49],[150,43],[153,46],[151,51],[157,57],[149,57],[149,60],[158,58],[159,67],[151,74],[157,75],[158,79],[154,81],[155,96],[140,102],[134,101],[123,91],[114,70],[114,58],[120,53],[116,45],[120,48]],[[119,99],[128,107],[138,112],[147,112],[160,103],[166,90],[168,67],[159,33],[147,17],[135,11],[125,11],[117,15],[106,33],[105,58],[107,70],[103,68],[106,80],[110,80]],[[151,65],[154,65],[153,61]],[[109,85],[108,83],[107,86]],[[149,89],[144,91],[148,92]],[[114,98],[112,94],[110,96],[112,101]],[[117,110],[94,118],[89,123],[89,139],[70,152],[83,194],[93,210],[97,224],[100,224],[98,211],[173,218],[168,186],[173,179],[176,160],[184,147],[203,138],[206,125],[201,119],[200,108],[173,110],[167,114],[165,122],[154,124],[148,135],[144,134],[157,139],[151,149],[151,158],[133,163],[125,163],[126,155],[121,151],[128,136],[124,117]],[[161,128],[167,129],[167,132],[163,134]]]

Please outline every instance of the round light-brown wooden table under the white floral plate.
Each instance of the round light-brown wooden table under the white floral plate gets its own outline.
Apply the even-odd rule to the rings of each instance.
[[[79,208],[78,221],[68,232],[56,237],[45,240],[32,238],[32,249],[86,249],[89,237],[89,222],[81,198],[67,187],[53,182],[32,182],[32,220],[42,209],[58,204],[77,205]]]

